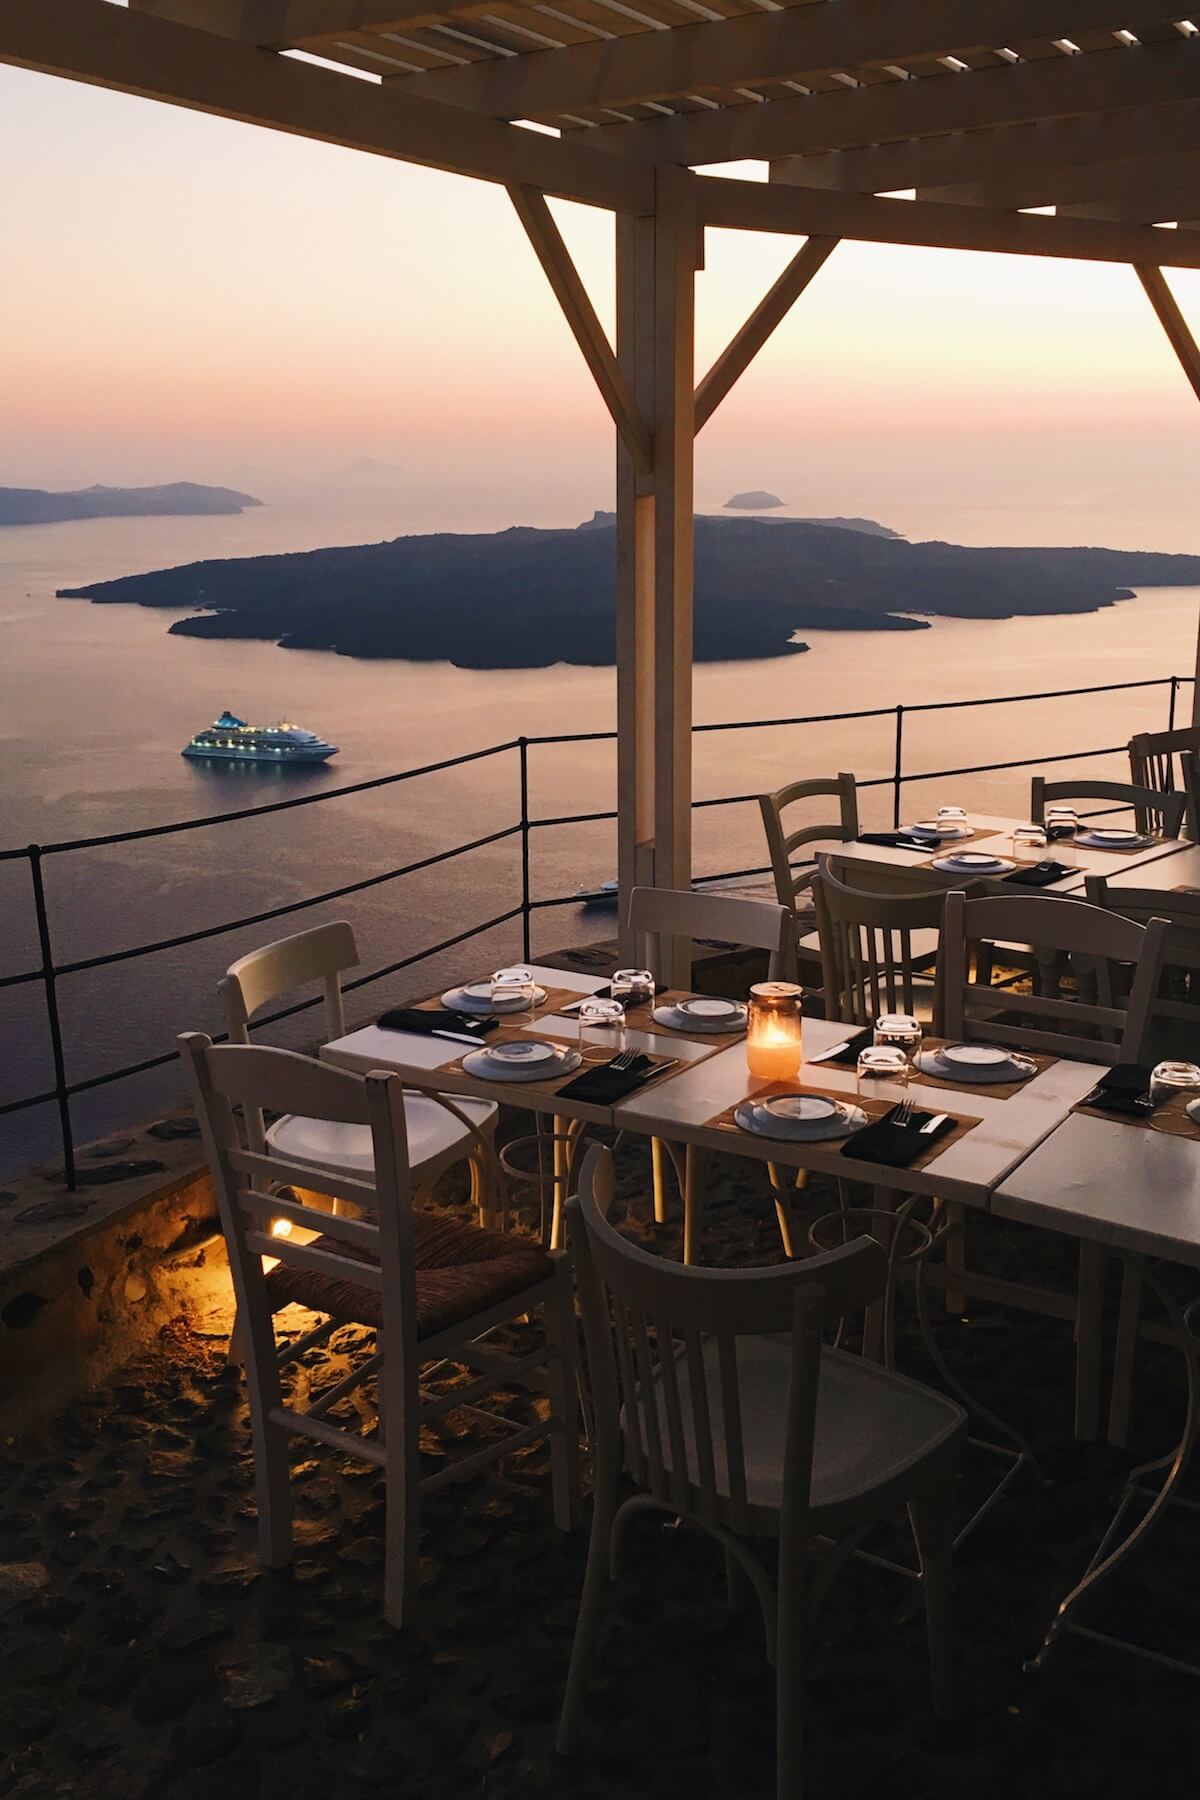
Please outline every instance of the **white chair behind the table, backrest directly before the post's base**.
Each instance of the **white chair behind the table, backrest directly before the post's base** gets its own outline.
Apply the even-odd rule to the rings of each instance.
[[[795,923],[784,905],[772,900],[745,900],[736,895],[705,895],[675,887],[635,887],[630,895],[628,927],[631,932],[644,932],[648,941],[648,965],[658,974],[662,968],[664,938],[714,938],[718,943],[747,945],[754,950],[766,950],[766,974],[770,981],[790,981],[795,976]],[[666,1224],[666,1156],[675,1150],[660,1138],[651,1138],[649,1156],[653,1168],[655,1224]],[[684,1262],[693,1262],[700,1231],[700,1168],[702,1157],[691,1148],[684,1150],[682,1165],[675,1161],[680,1190],[684,1195]],[[792,1255],[792,1222],[786,1217],[784,1190],[775,1181],[775,1204],[779,1206],[779,1228],[784,1237],[788,1255]]]

